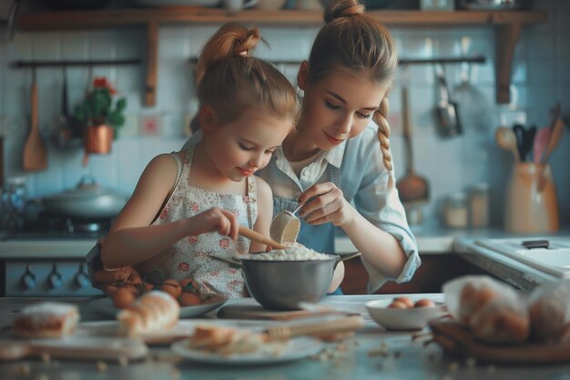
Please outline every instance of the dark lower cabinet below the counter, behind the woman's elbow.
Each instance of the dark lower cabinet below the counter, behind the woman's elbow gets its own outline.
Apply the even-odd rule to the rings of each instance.
[[[413,275],[410,282],[386,282],[376,293],[440,293],[443,282],[468,274],[487,274],[479,266],[463,260],[455,253],[430,253],[422,255],[422,265]],[[368,273],[362,265],[361,259],[356,258],[344,262],[345,275],[341,283],[345,294],[366,294]]]

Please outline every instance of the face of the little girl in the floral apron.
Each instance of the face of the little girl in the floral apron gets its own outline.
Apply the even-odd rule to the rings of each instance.
[[[293,122],[292,118],[268,118],[252,111],[224,125],[205,128],[209,159],[221,174],[239,182],[267,166]]]

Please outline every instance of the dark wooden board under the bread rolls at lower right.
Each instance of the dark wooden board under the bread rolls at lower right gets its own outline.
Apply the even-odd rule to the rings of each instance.
[[[434,320],[429,325],[433,332],[433,341],[440,344],[447,354],[474,357],[497,365],[551,365],[570,361],[570,342],[483,344],[473,337],[471,331],[455,321]]]

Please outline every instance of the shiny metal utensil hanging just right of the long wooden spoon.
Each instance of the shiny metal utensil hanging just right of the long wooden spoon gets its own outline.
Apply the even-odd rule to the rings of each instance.
[[[462,128],[459,122],[457,103],[450,99],[445,72],[441,64],[435,65],[435,78],[439,95],[435,107],[437,131],[443,137],[459,135],[462,132]]]

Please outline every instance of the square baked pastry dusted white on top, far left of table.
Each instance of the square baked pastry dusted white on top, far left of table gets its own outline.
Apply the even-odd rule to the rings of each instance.
[[[22,309],[14,321],[16,334],[28,338],[61,338],[72,334],[79,322],[77,306],[69,303],[38,303]]]

